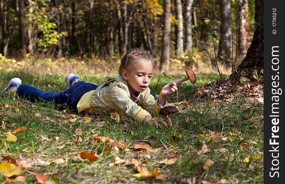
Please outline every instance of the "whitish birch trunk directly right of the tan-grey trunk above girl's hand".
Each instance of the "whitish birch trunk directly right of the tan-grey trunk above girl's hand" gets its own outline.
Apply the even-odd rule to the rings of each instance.
[[[188,0],[187,0],[188,1]],[[182,59],[183,55],[183,16],[182,16],[182,4],[181,0],[175,0],[176,4],[176,19],[178,20],[178,25],[176,26],[176,58]],[[191,11],[190,11],[191,13]]]

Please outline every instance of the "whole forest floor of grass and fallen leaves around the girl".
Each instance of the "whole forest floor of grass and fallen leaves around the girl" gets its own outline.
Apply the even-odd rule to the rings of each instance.
[[[108,74],[112,66],[7,60],[0,63],[0,90],[19,77],[22,84],[59,92],[71,72],[101,84],[115,75],[115,69]],[[183,82],[168,98],[179,109],[170,128],[116,113],[72,114],[53,103],[0,98],[0,182],[263,183],[262,82],[222,85],[211,69],[195,72],[194,85]],[[157,97],[183,73],[154,75],[151,93]]]

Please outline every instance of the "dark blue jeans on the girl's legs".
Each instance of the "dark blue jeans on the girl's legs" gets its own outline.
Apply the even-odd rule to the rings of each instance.
[[[85,83],[83,81],[76,82],[73,86],[59,93],[52,93],[47,91],[41,91],[35,87],[28,85],[20,85],[17,89],[19,97],[27,99],[31,102],[54,102],[55,104],[64,105],[75,113],[78,113],[77,104],[83,94],[95,90],[98,86],[91,83]]]

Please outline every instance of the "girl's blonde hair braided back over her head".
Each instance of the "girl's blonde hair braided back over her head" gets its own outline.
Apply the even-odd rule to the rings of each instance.
[[[119,67],[119,75],[122,76],[123,70],[127,70],[129,66],[134,64],[134,61],[150,61],[154,64],[153,56],[149,54],[146,50],[140,48],[132,48],[127,51],[125,56],[121,60],[121,64]]]

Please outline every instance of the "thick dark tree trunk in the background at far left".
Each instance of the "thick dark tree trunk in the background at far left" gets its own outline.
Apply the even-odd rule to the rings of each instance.
[[[26,41],[25,41],[25,12],[24,12],[24,0],[17,0],[18,4],[18,23],[19,23],[19,39],[20,49],[22,54],[27,53]]]

